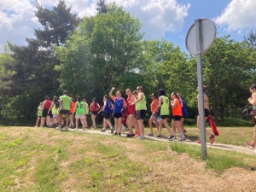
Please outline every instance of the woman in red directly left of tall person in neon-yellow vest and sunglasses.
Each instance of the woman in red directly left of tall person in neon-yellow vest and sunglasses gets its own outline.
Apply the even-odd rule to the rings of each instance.
[[[127,134],[126,137],[134,137],[135,134],[133,133],[132,125],[133,125],[133,120],[134,120],[134,117],[135,117],[135,106],[131,105],[131,102],[135,101],[135,96],[131,94],[130,89],[125,90],[125,92],[126,92],[126,95],[128,96],[127,100],[126,100],[126,105],[127,105],[127,108],[128,108],[126,122],[127,122],[127,126],[128,126],[128,129],[129,129],[129,133]]]

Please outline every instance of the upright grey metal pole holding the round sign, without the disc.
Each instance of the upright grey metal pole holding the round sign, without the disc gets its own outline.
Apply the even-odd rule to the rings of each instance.
[[[206,124],[204,108],[204,91],[201,64],[201,20],[195,20],[195,40],[196,40],[196,58],[197,58],[197,76],[198,76],[198,93],[199,93],[199,115],[201,130],[201,159],[207,159],[207,141],[206,141]]]

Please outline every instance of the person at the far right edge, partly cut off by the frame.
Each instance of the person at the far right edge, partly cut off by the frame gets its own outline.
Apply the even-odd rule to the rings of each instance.
[[[250,102],[253,105],[253,122],[254,122],[254,134],[253,134],[253,140],[251,142],[247,142],[247,146],[249,148],[255,148],[255,143],[256,143],[256,120],[255,120],[255,115],[256,115],[256,84],[253,84],[250,87],[250,92],[252,93],[252,96],[248,98],[248,102]]]

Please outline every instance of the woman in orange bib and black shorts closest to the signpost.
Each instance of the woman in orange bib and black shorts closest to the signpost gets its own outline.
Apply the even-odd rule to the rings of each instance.
[[[176,129],[177,129],[177,131],[179,131],[180,133],[180,138],[178,139],[178,141],[183,141],[186,139],[186,137],[184,136],[183,130],[181,128],[181,122],[180,122],[180,119],[182,119],[183,117],[183,113],[182,113],[183,102],[181,102],[181,100],[178,98],[177,93],[172,93],[171,98],[172,98],[171,106],[172,106],[172,115],[173,115],[173,118],[172,118],[173,136],[169,140],[176,139]]]

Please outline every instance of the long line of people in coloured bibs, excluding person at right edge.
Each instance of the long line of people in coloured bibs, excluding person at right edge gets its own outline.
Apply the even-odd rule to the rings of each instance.
[[[49,127],[56,127],[56,129],[63,128],[63,116],[66,119],[66,128],[73,128],[73,115],[75,114],[75,129],[79,128],[79,119],[83,125],[83,130],[88,128],[87,116],[89,111],[91,114],[92,127],[96,128],[96,115],[98,113],[103,114],[102,130],[106,131],[107,125],[110,128],[111,133],[114,135],[121,136],[122,127],[124,124],[124,113],[125,113],[125,124],[128,126],[129,132],[126,137],[139,137],[140,139],[145,138],[144,131],[144,118],[147,114],[147,100],[146,96],[143,93],[143,87],[137,86],[137,89],[131,91],[131,89],[125,90],[127,98],[121,96],[120,91],[116,91],[115,96],[113,96],[113,87],[109,95],[103,96],[103,106],[102,108],[96,102],[96,99],[93,99],[88,106],[86,99],[81,99],[80,96],[77,97],[77,101],[74,98],[67,96],[67,90],[64,91],[64,95],[60,96],[58,99],[57,96],[53,97],[53,101],[49,101],[49,97],[45,96],[45,101],[40,103],[38,107],[38,122],[41,119],[41,125],[44,126],[45,119],[46,124]],[[204,86],[204,90],[207,90],[207,87]],[[181,94],[173,92],[170,96],[166,96],[166,92],[163,89],[158,91],[158,94],[152,93],[151,95],[152,102],[150,104],[150,110],[152,115],[149,118],[148,125],[150,132],[148,137],[154,137],[153,133],[153,123],[157,128],[157,135],[155,137],[162,137],[162,127],[166,127],[166,130],[169,132],[169,140],[172,141],[177,139],[177,131],[179,132],[179,141],[186,139],[185,133],[186,130],[183,128],[183,120],[188,115],[186,111],[186,103],[184,102]],[[204,94],[204,105],[205,105],[205,116],[206,119],[209,116],[209,104],[207,95]],[[111,102],[111,100],[113,102]],[[170,107],[172,108],[172,129],[168,125],[167,119],[170,117]],[[113,111],[113,113],[112,113]],[[114,126],[112,125],[110,118],[113,114]],[[68,124],[70,119],[70,124]],[[199,126],[199,118],[197,119]],[[135,131],[133,130],[135,129]],[[207,136],[210,139],[210,143],[213,143],[214,135],[210,134],[207,131]],[[198,143],[201,143],[198,141]]]

